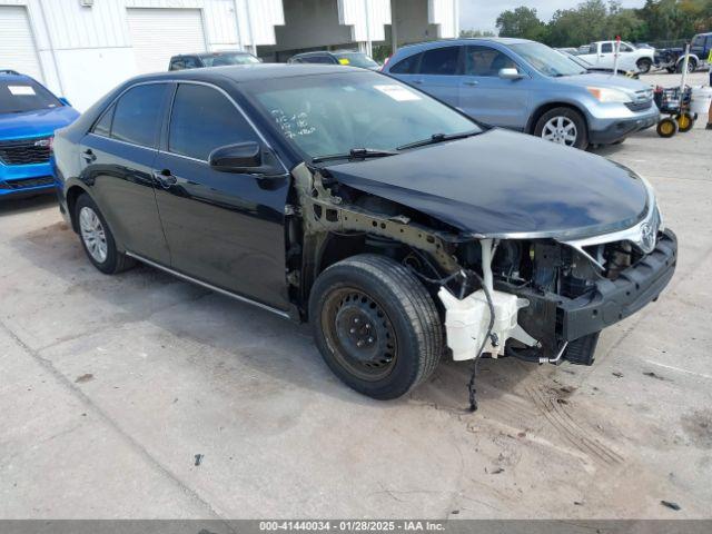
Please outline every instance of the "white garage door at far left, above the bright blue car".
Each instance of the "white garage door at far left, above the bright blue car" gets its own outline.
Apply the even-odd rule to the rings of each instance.
[[[0,69],[12,69],[42,80],[27,9],[0,6]]]

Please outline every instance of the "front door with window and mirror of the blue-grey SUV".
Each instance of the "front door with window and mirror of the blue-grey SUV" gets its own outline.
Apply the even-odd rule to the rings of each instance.
[[[500,77],[502,69],[517,69],[520,79]],[[491,126],[524,129],[528,119],[532,79],[503,51],[485,44],[467,46],[459,109]]]

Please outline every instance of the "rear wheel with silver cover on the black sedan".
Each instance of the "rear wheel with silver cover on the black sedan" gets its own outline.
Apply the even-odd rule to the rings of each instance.
[[[77,199],[75,220],[89,261],[101,273],[113,275],[135,265],[134,259],[117,249],[109,225],[89,195],[83,194]]]

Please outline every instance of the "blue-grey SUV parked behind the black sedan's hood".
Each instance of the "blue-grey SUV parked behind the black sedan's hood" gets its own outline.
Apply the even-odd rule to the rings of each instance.
[[[384,72],[491,126],[584,149],[657,122],[652,89],[589,73],[524,39],[457,39],[404,47]]]

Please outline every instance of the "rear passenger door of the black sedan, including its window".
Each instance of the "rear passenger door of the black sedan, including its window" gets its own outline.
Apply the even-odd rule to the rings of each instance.
[[[168,83],[123,92],[81,140],[82,179],[126,250],[170,261],[156,206],[154,165]]]

